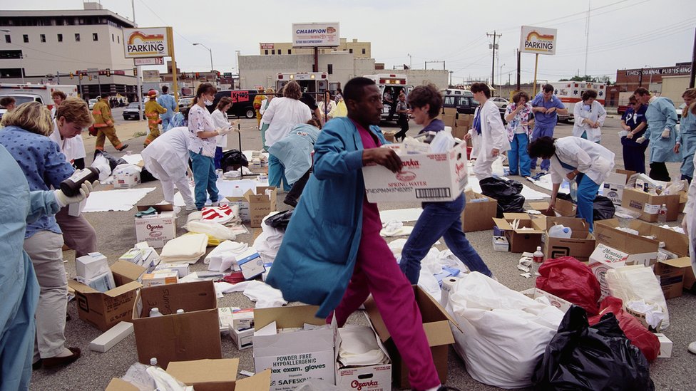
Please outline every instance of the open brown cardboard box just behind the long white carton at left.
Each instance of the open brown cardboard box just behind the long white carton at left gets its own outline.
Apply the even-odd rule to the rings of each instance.
[[[102,331],[121,321],[131,320],[136,291],[142,286],[138,278],[146,270],[128,261],[116,261],[109,269],[116,288],[103,293],[83,283],[68,281],[68,286],[75,291],[80,319]]]

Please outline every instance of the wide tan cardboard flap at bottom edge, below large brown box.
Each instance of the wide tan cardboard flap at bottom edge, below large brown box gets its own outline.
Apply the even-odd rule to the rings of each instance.
[[[238,358],[171,361],[167,373],[185,385],[230,383],[237,380]]]

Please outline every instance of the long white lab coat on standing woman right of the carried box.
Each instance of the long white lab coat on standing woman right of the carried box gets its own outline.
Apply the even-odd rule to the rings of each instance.
[[[469,130],[469,134],[473,144],[471,156],[476,156],[474,174],[481,180],[493,175],[493,162],[498,157],[491,155],[491,151],[497,149],[500,155],[503,155],[503,152],[510,150],[510,141],[498,106],[492,100],[486,100],[486,103],[476,108],[474,117],[479,110],[481,110],[481,135],[473,128]]]

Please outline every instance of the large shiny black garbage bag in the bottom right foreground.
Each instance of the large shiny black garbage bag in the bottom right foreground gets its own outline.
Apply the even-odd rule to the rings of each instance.
[[[537,390],[655,390],[648,360],[614,314],[590,327],[578,306],[565,313],[531,380]]]

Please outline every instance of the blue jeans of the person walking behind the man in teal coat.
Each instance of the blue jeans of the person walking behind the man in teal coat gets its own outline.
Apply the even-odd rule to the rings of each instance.
[[[470,271],[493,276],[481,256],[466,240],[464,231],[461,231],[461,212],[464,211],[465,204],[464,195],[451,202],[423,203],[423,213],[401,251],[399,264],[411,283],[418,283],[421,260],[440,238],[445,240],[447,247]]]

